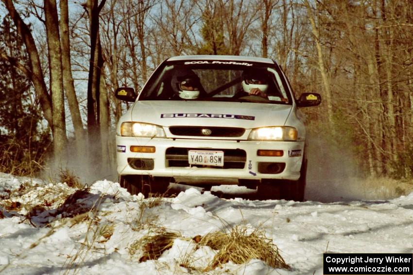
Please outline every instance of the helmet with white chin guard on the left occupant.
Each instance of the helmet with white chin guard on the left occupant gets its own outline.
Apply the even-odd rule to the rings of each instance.
[[[197,99],[200,94],[201,82],[192,70],[177,70],[171,80],[172,90],[180,98]]]

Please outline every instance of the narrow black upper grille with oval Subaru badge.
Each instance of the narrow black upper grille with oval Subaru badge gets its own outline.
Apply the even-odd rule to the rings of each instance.
[[[209,129],[210,134],[203,133],[203,129]],[[169,128],[176,136],[205,136],[205,137],[241,137],[245,129],[235,127],[199,127],[199,126],[172,126]]]

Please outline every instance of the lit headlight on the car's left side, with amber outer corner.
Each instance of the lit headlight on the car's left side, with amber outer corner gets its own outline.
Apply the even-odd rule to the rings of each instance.
[[[120,125],[120,135],[124,137],[165,137],[162,127],[141,122],[123,122]]]

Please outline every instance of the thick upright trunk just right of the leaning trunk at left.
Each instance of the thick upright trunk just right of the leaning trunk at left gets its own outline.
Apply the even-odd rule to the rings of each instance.
[[[59,23],[55,0],[44,1],[49,69],[52,91],[52,120],[54,155],[61,158],[67,144],[65,101],[63,92],[62,53],[60,49]]]

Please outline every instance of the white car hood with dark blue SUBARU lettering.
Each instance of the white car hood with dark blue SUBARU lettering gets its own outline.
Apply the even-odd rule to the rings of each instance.
[[[291,109],[291,105],[269,103],[141,100],[122,116],[121,122],[252,129],[283,126]]]

